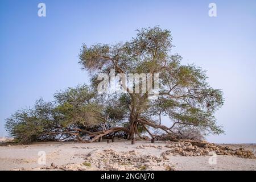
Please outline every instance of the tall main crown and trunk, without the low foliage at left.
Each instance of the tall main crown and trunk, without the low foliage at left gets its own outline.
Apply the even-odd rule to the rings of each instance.
[[[171,55],[172,47],[171,32],[154,27],[138,30],[137,37],[130,42],[113,46],[84,45],[81,49],[79,63],[89,71],[92,78],[98,73],[110,75],[112,68],[115,69],[115,75],[159,73],[158,100],[152,100],[153,95],[148,90],[146,93],[134,93],[130,92],[134,87],[122,85],[129,100],[129,115],[126,119],[129,122],[127,129],[130,139],[138,133],[138,126],[143,126],[151,137],[156,136],[147,127],[162,129],[170,135],[175,135],[172,129],[177,125],[198,127],[214,134],[224,132],[214,119],[214,112],[224,103],[222,91],[209,86],[205,71],[201,68],[190,64],[181,65],[181,56]],[[96,79],[92,81],[93,85],[97,85]],[[159,115],[168,115],[172,126],[156,124],[153,112],[146,115],[150,110]]]

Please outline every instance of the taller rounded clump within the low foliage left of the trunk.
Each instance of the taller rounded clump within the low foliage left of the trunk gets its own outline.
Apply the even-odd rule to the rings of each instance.
[[[54,97],[58,104],[55,111],[60,115],[63,126],[79,124],[92,127],[101,122],[102,107],[97,104],[96,94],[88,86],[68,88],[55,93]]]

